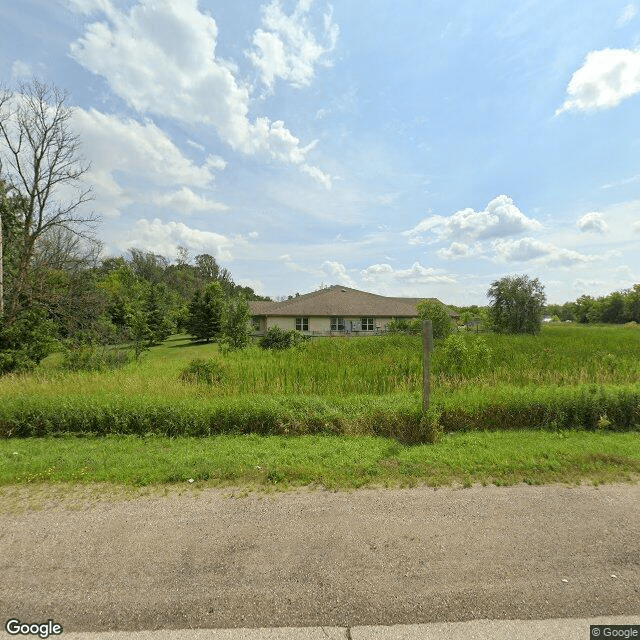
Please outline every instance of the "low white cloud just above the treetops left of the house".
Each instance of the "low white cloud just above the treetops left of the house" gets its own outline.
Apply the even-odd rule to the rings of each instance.
[[[173,256],[178,247],[186,247],[194,253],[209,253],[220,260],[231,260],[234,241],[219,233],[191,229],[182,222],[162,222],[139,219],[129,239],[119,246],[126,250],[132,247],[152,251],[163,256]]]

